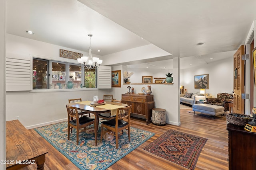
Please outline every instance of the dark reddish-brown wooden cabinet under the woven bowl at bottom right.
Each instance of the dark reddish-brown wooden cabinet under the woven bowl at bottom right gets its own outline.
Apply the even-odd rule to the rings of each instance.
[[[229,170],[253,170],[256,167],[256,133],[228,123]]]

